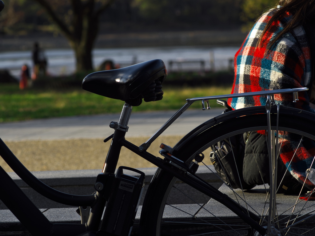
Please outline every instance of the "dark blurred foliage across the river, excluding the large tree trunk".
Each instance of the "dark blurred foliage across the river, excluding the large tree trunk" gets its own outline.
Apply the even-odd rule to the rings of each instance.
[[[82,0],[81,2],[87,2]],[[59,34],[52,19],[36,0],[3,0],[2,34]],[[95,4],[105,2],[95,1]],[[50,0],[64,22],[74,17],[69,0]],[[179,30],[248,31],[275,0],[115,0],[100,16],[100,33]]]

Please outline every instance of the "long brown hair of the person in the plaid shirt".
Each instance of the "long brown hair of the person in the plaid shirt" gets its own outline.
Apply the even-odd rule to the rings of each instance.
[[[272,15],[258,40],[258,46],[261,46],[262,38],[264,34],[271,29],[273,22],[281,20],[288,12],[292,15],[292,18],[284,26],[284,29],[276,37],[272,38],[267,48],[270,48],[272,44],[283,37],[285,33],[299,25],[315,25],[315,0],[280,0],[278,5],[283,7],[278,8]],[[315,31],[315,28],[313,28],[313,30]]]

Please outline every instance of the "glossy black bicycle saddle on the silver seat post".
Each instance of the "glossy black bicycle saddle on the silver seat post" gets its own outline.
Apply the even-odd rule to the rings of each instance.
[[[142,102],[161,100],[161,84],[167,72],[161,59],[141,62],[116,70],[94,72],[82,81],[82,88],[108,98],[137,106]],[[139,104],[140,103],[140,104]]]

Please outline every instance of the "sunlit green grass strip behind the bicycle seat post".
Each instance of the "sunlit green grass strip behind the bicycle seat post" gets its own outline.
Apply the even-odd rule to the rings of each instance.
[[[143,102],[133,111],[179,109],[186,98],[229,94],[231,87],[165,87],[161,101]],[[124,102],[102,97],[81,88],[40,90],[19,90],[18,85],[0,84],[0,122],[22,121],[38,118],[72,115],[92,115],[120,112]],[[215,100],[211,107],[220,107]],[[192,104],[201,108],[201,102]]]

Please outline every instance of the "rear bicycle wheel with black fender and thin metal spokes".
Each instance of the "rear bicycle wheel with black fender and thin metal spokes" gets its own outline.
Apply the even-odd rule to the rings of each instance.
[[[207,121],[190,132],[173,148],[172,154],[190,163],[196,154],[203,153],[205,158],[199,163],[199,176],[208,182],[214,181],[215,175],[209,161],[211,147],[215,147],[221,140],[231,140],[237,134],[245,134],[249,137],[247,147],[251,146],[251,136],[255,133],[264,133],[267,128],[266,110],[264,107],[254,107],[228,112],[215,119]],[[279,116],[277,109],[272,108],[271,129],[272,143],[278,143],[278,163],[287,160],[287,166],[272,171],[278,183],[277,194],[270,196],[270,187],[265,177],[261,177],[261,185],[250,190],[232,189],[230,184],[222,180],[219,190],[248,211],[260,217],[260,224],[268,228],[269,235],[314,235],[315,224],[313,214],[315,202],[301,199],[308,189],[312,188],[309,178],[306,178],[306,170],[313,165],[315,155],[315,115],[309,112],[280,107]],[[278,132],[278,136],[276,131]],[[266,137],[266,135],[264,135]],[[249,145],[249,146],[248,146]],[[276,145],[275,145],[276,146]],[[255,153],[253,151],[253,153]],[[252,155],[253,158],[254,154]],[[236,157],[237,158],[237,157]],[[301,161],[304,158],[303,161]],[[297,160],[301,162],[297,165]],[[314,165],[315,166],[315,165]],[[253,169],[260,170],[262,175],[268,170],[260,169],[259,164]],[[299,167],[298,172],[292,169]],[[292,191],[284,191],[285,179],[292,174],[304,174],[299,176],[294,186],[289,186]],[[304,172],[304,173],[303,173]],[[242,173],[239,173],[242,175]],[[283,178],[283,176],[286,177]],[[304,182],[303,182],[304,181]],[[312,180],[311,180],[312,181]],[[268,183],[266,183],[268,182]],[[281,184],[280,184],[281,182]],[[304,183],[304,186],[303,186]],[[218,183],[214,183],[218,184]],[[271,184],[270,184],[271,185]],[[284,187],[283,187],[284,186]],[[305,188],[308,186],[308,189]],[[241,187],[242,188],[242,187]],[[178,200],[181,199],[181,200]],[[271,200],[270,200],[271,199]],[[311,198],[310,198],[311,199]],[[272,202],[273,214],[269,215],[269,202]],[[260,235],[246,222],[235,215],[230,209],[221,203],[198,193],[198,190],[185,186],[170,174],[157,170],[146,194],[146,199],[141,213],[142,235]]]

